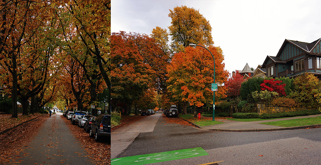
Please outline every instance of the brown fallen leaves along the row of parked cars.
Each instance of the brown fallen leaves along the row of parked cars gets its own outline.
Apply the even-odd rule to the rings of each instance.
[[[89,137],[89,133],[85,130],[79,128],[77,125],[72,125],[71,122],[62,115],[61,118],[65,121],[74,137],[85,147],[85,150],[89,153],[87,156],[91,158],[94,163],[97,165],[110,164],[110,141],[108,141],[107,138],[102,138],[100,142],[96,142],[94,138]]]

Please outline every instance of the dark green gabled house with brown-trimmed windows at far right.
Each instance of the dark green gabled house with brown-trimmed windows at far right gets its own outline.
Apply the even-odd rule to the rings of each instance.
[[[293,40],[283,42],[275,57],[267,56],[262,65],[267,77],[296,77],[310,72],[321,78],[321,38],[312,43]]]

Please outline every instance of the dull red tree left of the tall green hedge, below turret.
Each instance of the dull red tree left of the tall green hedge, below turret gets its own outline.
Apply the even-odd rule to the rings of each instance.
[[[230,77],[225,86],[227,88],[227,96],[236,98],[241,94],[241,84],[245,81],[239,71],[236,71],[232,77]]]

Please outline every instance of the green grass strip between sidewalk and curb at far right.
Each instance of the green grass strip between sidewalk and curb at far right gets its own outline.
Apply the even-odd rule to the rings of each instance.
[[[280,127],[315,125],[315,124],[321,124],[321,116],[308,117],[303,119],[282,120],[282,121],[276,121],[276,122],[262,122],[260,124],[274,125],[274,126],[280,126]]]

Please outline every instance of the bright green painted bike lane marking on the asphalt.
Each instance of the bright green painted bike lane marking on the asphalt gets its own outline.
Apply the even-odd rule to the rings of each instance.
[[[197,156],[208,155],[208,153],[202,148],[190,148],[183,150],[167,151],[161,153],[150,153],[144,155],[128,156],[123,158],[114,158],[111,160],[112,165],[143,165],[149,163],[157,163],[163,161],[172,161],[178,159],[192,158]]]

